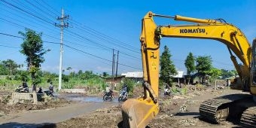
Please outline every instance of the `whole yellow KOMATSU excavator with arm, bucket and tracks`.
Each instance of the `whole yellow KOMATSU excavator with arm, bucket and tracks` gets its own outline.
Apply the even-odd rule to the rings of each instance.
[[[157,26],[154,17],[166,17],[193,24]],[[151,11],[142,19],[140,36],[142,66],[144,78],[144,96],[128,99],[123,102],[123,127],[144,128],[159,112],[158,85],[160,62],[160,38],[202,38],[220,41],[227,45],[230,58],[242,82],[236,89],[243,92],[206,100],[200,105],[200,116],[203,119],[220,123],[227,117],[239,117],[241,126],[256,125],[256,39],[251,44],[236,26],[223,19],[203,20],[191,17],[166,16]],[[238,64],[236,56],[242,62]],[[237,86],[238,85],[238,86]]]

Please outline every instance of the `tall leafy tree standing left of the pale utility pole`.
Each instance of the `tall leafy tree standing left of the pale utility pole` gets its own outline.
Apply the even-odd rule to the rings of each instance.
[[[26,56],[27,67],[31,73],[32,90],[36,91],[36,85],[40,82],[36,73],[40,70],[41,63],[44,62],[44,54],[49,50],[44,50],[41,32],[36,33],[32,29],[25,29],[25,31],[25,33],[19,32],[24,37],[20,53]]]

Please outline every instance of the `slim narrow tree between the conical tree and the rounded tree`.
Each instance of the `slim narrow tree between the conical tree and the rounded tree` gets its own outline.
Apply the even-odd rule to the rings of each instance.
[[[184,65],[187,68],[187,75],[188,75],[188,82],[187,84],[189,84],[190,82],[190,78],[191,78],[191,73],[196,71],[196,66],[195,66],[195,57],[193,56],[193,53],[188,53],[187,58],[185,59]]]

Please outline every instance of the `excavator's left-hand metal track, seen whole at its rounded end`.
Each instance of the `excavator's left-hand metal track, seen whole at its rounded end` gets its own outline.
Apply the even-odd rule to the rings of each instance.
[[[206,100],[200,105],[200,116],[213,123],[220,123],[227,119],[229,108],[233,102],[246,99],[249,96],[248,94],[231,94]]]

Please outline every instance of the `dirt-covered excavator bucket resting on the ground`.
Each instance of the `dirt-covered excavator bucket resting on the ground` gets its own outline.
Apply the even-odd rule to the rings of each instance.
[[[123,128],[145,128],[158,111],[151,99],[128,99],[122,105]]]

